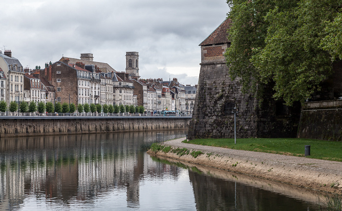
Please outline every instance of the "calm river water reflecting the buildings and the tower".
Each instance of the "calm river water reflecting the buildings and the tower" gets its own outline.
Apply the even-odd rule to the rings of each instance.
[[[1,138],[0,210],[318,210],[309,190],[151,158],[156,133]]]

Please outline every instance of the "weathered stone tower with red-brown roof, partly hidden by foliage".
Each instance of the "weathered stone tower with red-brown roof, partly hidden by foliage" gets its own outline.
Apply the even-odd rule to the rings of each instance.
[[[234,107],[239,110],[237,138],[296,137],[300,109],[275,101],[272,87],[265,87],[260,103],[254,93],[242,93],[238,78],[231,79],[224,57],[230,47],[230,23],[229,19],[223,21],[199,44],[201,69],[188,138],[234,138]]]

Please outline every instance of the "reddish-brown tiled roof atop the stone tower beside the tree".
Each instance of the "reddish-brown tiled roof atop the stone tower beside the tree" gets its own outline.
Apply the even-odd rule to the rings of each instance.
[[[228,41],[228,33],[227,30],[230,28],[231,20],[224,20],[203,42],[201,45],[210,45],[210,44],[218,44],[218,43],[226,43]]]

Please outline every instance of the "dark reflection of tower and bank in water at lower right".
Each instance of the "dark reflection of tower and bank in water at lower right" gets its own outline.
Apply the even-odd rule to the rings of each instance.
[[[318,191],[166,158],[189,169],[197,211],[318,211]]]

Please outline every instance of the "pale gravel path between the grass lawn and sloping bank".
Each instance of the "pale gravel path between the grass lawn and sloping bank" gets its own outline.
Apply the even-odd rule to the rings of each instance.
[[[274,163],[278,163],[279,165],[296,164],[296,165],[302,165],[302,166],[310,166],[310,167],[315,167],[312,170],[314,169],[317,169],[320,171],[324,170],[324,171],[329,171],[331,173],[334,172],[336,174],[342,175],[342,162],[319,160],[319,159],[312,159],[312,158],[306,158],[306,157],[279,155],[279,154],[272,154],[272,153],[265,153],[265,152],[254,152],[254,151],[236,150],[236,149],[229,149],[229,148],[185,144],[185,143],[182,143],[182,141],[184,140],[185,140],[185,137],[166,141],[164,142],[164,144],[174,146],[174,147],[202,150],[206,152],[224,153],[232,157],[235,157],[235,156],[236,157],[249,157],[250,160],[254,160],[254,159],[269,160],[269,161],[273,161]],[[304,146],[303,146],[303,151],[304,151]]]

